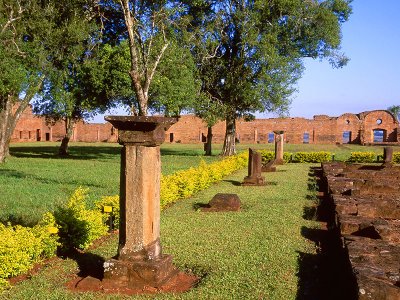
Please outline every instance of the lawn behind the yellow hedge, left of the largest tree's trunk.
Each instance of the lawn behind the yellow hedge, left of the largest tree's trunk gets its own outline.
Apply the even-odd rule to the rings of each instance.
[[[56,156],[59,143],[11,145],[12,157],[0,165],[0,221],[31,224],[52,211],[79,186],[90,189],[90,200],[119,193],[120,146],[71,143],[70,156]],[[163,145],[162,174],[189,167],[204,157],[199,145]]]

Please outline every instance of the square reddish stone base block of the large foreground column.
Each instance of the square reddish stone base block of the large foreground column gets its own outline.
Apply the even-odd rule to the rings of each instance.
[[[158,288],[175,276],[178,270],[172,264],[172,256],[162,255],[151,260],[110,259],[104,263],[105,291],[116,288]]]

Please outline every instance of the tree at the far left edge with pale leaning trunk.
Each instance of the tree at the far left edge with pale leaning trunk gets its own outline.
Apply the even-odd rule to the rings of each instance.
[[[51,7],[41,1],[0,1],[0,163],[9,155],[15,126],[39,92],[47,67],[43,40]]]

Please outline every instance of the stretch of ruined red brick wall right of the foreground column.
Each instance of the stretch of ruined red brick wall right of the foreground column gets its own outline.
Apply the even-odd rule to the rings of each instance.
[[[339,117],[317,115],[313,119],[270,118],[251,122],[237,120],[236,137],[242,143],[272,143],[274,131],[283,130],[286,143],[301,144],[377,144],[398,143],[399,124],[385,110],[345,113]],[[195,116],[182,116],[167,132],[167,142],[205,142],[207,127]],[[213,126],[213,142],[223,143],[225,123]]]

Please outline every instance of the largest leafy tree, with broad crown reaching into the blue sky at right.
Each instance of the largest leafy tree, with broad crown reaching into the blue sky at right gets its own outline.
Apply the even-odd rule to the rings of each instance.
[[[184,1],[209,45],[198,60],[203,87],[225,107],[223,155],[235,153],[235,120],[255,111],[284,111],[300,78],[302,58],[341,67],[341,24],[351,0]],[[195,47],[194,51],[202,52]]]

